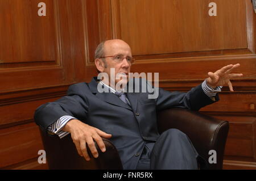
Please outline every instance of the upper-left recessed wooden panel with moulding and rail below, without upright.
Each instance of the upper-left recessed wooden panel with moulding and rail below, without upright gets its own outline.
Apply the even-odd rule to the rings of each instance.
[[[64,82],[59,1],[46,1],[47,16],[38,16],[39,2],[1,1],[0,91]]]

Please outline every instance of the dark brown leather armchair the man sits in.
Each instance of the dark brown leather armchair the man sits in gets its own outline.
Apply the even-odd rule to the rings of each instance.
[[[158,113],[158,130],[176,128],[187,134],[197,152],[200,169],[222,169],[223,155],[228,136],[228,121],[218,120],[196,111],[171,108]],[[85,161],[77,153],[70,134],[60,139],[41,131],[49,169],[123,169],[118,151],[109,140],[104,139],[105,153],[96,145],[98,158]],[[209,150],[216,150],[217,163],[210,164]]]

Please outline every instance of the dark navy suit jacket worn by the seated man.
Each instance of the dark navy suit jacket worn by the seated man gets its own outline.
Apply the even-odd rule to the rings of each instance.
[[[139,84],[136,81],[129,83],[133,82],[135,89],[136,86],[141,88],[143,81],[139,79]],[[148,94],[153,94],[150,93],[152,90],[128,92],[130,107],[112,92],[98,92],[97,85],[97,79],[94,77],[90,83],[76,83],[70,86],[67,96],[40,106],[35,112],[35,121],[46,131],[47,127],[61,116],[70,115],[112,134],[110,141],[118,150],[123,169],[135,169],[139,161],[138,153],[142,153],[144,144],[158,139],[156,112],[171,107],[200,110],[201,107],[214,103],[199,85],[187,93],[159,88],[159,96],[156,99],[148,99]],[[215,99],[218,101],[218,95]]]

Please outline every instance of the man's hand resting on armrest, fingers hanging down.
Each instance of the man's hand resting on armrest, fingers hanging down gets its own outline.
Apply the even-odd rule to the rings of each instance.
[[[101,151],[105,152],[106,147],[101,137],[107,139],[112,137],[112,134],[102,132],[100,129],[91,127],[77,119],[68,121],[62,130],[71,133],[71,137],[74,144],[76,145],[77,152],[81,157],[84,157],[86,161],[90,160],[88,150],[86,149],[86,143],[88,144],[93,157],[97,158],[98,151],[94,144],[94,140],[97,142]]]

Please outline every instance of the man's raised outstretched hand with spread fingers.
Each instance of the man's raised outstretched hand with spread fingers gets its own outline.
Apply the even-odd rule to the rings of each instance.
[[[232,74],[232,70],[236,69],[240,66],[240,64],[236,65],[227,65],[223,68],[215,71],[214,73],[208,72],[209,77],[206,79],[207,85],[215,89],[217,86],[225,86],[228,84],[229,90],[233,90],[232,83],[230,82],[230,79],[242,77],[243,74]]]

